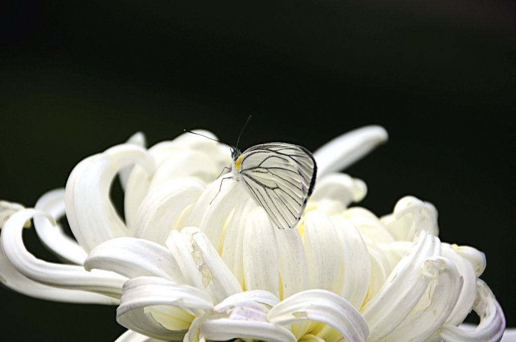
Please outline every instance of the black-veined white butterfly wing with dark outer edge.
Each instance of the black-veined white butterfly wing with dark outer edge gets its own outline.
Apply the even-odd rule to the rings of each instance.
[[[317,165],[306,148],[286,143],[250,147],[240,159],[240,178],[278,228],[293,228],[315,184]]]

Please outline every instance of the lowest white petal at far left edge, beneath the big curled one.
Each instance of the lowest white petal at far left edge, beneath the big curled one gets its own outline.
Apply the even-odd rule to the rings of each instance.
[[[12,266],[4,254],[3,248],[0,245],[0,281],[10,289],[22,293],[27,296],[53,300],[57,302],[70,303],[90,303],[90,304],[110,304],[116,305],[119,303],[118,299],[86,292],[82,290],[72,290],[67,288],[54,287],[43,285],[28,279],[22,273]]]

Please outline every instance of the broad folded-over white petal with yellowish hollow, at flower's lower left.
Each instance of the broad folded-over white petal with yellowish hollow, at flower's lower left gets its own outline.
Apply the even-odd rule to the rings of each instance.
[[[171,313],[179,316],[189,314],[184,308],[190,310],[207,310],[212,307],[211,298],[202,290],[187,285],[176,285],[171,281],[158,277],[139,277],[128,280],[124,284],[120,306],[117,309],[117,321],[122,326],[137,333],[144,334],[162,340],[182,340],[186,329],[171,330],[165,326],[184,326],[182,319],[174,322],[174,317],[169,316],[169,321],[160,321],[153,316],[152,310],[146,310],[153,306],[175,306]],[[192,319],[193,317],[191,317]],[[172,328],[173,329],[173,328]]]

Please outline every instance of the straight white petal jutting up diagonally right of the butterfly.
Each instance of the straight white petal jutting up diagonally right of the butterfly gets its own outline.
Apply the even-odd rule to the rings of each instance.
[[[377,145],[387,141],[383,127],[365,126],[330,140],[314,152],[317,176],[341,170],[356,162]]]

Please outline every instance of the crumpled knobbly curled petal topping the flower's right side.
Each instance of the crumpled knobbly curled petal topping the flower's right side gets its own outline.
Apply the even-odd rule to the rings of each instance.
[[[394,213],[382,217],[381,222],[397,241],[413,241],[422,230],[439,235],[436,207],[413,196],[401,198]]]

